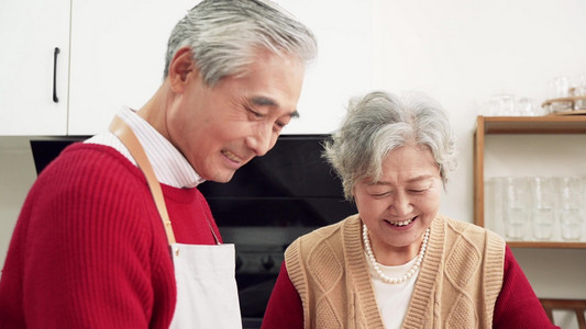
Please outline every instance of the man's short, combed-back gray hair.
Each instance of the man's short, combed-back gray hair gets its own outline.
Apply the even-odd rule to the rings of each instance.
[[[173,30],[165,59],[183,47],[191,49],[203,81],[213,87],[228,76],[241,76],[259,49],[296,56],[307,65],[317,56],[316,37],[277,4],[264,0],[204,0]]]

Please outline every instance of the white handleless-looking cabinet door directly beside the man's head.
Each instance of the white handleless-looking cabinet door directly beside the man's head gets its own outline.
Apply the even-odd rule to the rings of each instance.
[[[170,31],[196,3],[73,0],[69,135],[103,132],[122,106],[148,101],[163,82]]]

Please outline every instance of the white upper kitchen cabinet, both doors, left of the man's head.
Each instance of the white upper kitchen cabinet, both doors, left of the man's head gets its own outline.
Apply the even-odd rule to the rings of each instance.
[[[121,106],[141,107],[163,81],[172,29],[197,3],[0,1],[0,136],[93,135]]]

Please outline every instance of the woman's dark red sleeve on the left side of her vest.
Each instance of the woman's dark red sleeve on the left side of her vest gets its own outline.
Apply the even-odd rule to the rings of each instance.
[[[268,299],[262,329],[302,329],[303,306],[297,290],[289,280],[285,262]]]

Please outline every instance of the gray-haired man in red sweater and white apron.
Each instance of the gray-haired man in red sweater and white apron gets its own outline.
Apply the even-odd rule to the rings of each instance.
[[[311,32],[275,4],[206,0],[137,111],[38,177],[0,281],[0,327],[239,328],[233,246],[197,185],[228,182],[291,118]]]

